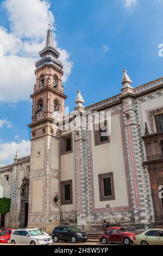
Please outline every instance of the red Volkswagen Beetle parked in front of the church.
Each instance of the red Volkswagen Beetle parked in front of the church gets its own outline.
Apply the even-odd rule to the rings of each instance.
[[[124,243],[125,245],[129,245],[130,243],[133,243],[134,239],[134,233],[127,232],[124,228],[113,227],[105,230],[104,234],[101,235],[99,240],[104,244],[108,242],[118,242]]]

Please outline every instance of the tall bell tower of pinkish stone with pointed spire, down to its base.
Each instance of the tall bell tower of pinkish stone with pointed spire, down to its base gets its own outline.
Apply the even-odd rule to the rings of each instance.
[[[36,84],[31,128],[31,166],[28,227],[52,231],[60,224],[60,131],[64,115],[63,65],[58,60],[52,31],[47,31],[46,46],[35,64]]]

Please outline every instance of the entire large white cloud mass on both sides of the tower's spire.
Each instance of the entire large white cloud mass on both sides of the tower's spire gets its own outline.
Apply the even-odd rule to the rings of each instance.
[[[3,5],[9,14],[11,32],[0,27],[0,101],[28,100],[35,83],[35,62],[46,44],[47,23],[54,28],[54,16],[45,0],[7,0]],[[57,47],[55,33],[53,38]],[[64,64],[62,80],[66,82],[73,63],[66,50],[58,49]]]

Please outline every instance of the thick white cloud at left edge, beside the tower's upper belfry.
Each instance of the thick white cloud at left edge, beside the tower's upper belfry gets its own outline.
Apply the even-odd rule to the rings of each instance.
[[[18,56],[0,57],[0,101],[29,99],[35,83],[35,59]]]

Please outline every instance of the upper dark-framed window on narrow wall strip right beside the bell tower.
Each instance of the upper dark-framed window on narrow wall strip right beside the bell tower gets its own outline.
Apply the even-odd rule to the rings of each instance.
[[[72,132],[61,135],[61,155],[72,153]]]

